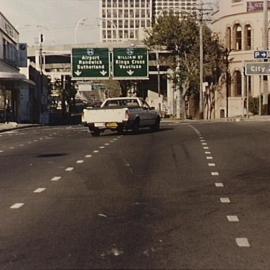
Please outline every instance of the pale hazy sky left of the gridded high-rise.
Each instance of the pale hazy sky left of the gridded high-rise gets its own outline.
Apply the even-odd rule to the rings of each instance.
[[[99,42],[99,0],[0,0],[20,42],[45,45]]]

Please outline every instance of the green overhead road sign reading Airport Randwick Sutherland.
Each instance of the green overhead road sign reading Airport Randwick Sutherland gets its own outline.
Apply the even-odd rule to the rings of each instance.
[[[108,48],[73,48],[72,77],[75,80],[106,80],[110,77]]]

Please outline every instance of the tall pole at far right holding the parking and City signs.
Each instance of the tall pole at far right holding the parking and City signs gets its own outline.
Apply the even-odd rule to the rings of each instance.
[[[263,50],[268,50],[268,1],[263,1]],[[267,59],[265,60],[267,62]],[[268,77],[263,76],[263,114],[268,114]]]

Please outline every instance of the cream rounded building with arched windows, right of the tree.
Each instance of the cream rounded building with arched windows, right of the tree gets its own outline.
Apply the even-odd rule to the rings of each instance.
[[[227,89],[224,89],[224,83],[222,92],[216,95],[216,118],[246,114],[247,95],[250,99],[257,98],[260,101],[259,97],[266,92],[262,76],[247,77],[244,74],[245,65],[256,61],[254,50],[264,48],[263,17],[262,0],[219,1],[219,8],[212,18],[212,30],[218,34],[229,52],[229,70]],[[268,91],[264,99],[269,95]]]

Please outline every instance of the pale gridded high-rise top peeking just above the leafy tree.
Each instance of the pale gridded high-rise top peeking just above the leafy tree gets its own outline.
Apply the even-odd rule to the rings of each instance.
[[[181,12],[193,13],[198,9],[200,0],[153,0],[153,13],[155,18],[164,12],[173,12],[179,15]]]

